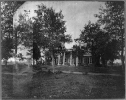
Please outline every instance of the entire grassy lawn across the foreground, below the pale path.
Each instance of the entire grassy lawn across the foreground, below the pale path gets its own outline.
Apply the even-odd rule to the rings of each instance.
[[[2,80],[4,98],[119,99],[125,96],[124,77],[121,75],[28,71],[18,75],[3,73]]]

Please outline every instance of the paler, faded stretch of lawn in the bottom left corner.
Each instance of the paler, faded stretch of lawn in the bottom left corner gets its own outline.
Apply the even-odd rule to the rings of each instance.
[[[28,85],[32,80],[32,74],[10,75],[2,74],[3,98],[28,98]]]

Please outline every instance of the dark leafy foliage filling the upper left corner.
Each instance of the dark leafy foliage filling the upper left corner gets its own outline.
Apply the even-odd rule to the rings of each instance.
[[[20,5],[24,1],[3,1],[1,2],[1,28],[2,39],[5,37],[12,38],[13,34],[13,16]]]

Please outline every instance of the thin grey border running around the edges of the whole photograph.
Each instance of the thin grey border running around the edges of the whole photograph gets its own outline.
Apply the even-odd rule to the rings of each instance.
[[[2,1],[35,1],[35,0],[1,0],[1,2]],[[67,2],[67,1],[77,1],[77,0],[37,0],[37,1],[66,1]],[[78,1],[92,1],[92,2],[94,2],[94,1],[99,1],[99,2],[124,1],[124,5],[125,5],[124,8],[125,8],[125,12],[126,12],[126,1],[125,0],[78,0]],[[1,13],[0,13],[0,15],[1,15]],[[0,18],[0,21],[1,21],[1,18]],[[1,35],[1,25],[0,25],[0,39],[1,39],[1,36],[2,35]],[[126,13],[125,13],[125,40],[126,40]],[[126,47],[126,41],[125,41],[125,47]],[[125,54],[126,54],[126,50],[125,50]],[[0,43],[0,60],[1,60],[1,43]],[[125,62],[126,62],[126,59],[125,59]],[[0,72],[2,73],[1,64],[0,64]],[[126,72],[126,68],[125,68],[125,72]],[[126,73],[125,73],[125,76],[126,76]],[[126,77],[125,77],[125,80],[126,80]],[[126,91],[126,84],[125,84],[125,91]],[[125,97],[126,97],[126,92],[125,92]],[[0,100],[17,100],[17,99],[2,99],[2,74],[0,74]],[[42,100],[42,99],[18,99],[18,100]],[[97,100],[97,99],[93,99],[93,100]],[[99,99],[99,100],[108,100],[108,99]],[[115,99],[111,99],[111,100],[115,100]],[[120,99],[118,99],[118,100],[120,100]],[[124,100],[125,100],[125,98],[124,98]]]

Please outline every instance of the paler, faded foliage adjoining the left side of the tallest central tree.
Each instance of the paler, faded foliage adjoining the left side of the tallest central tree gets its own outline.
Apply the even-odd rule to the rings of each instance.
[[[14,31],[17,33],[18,44],[24,45],[26,48],[33,47],[33,22],[29,18],[28,12],[19,15],[19,25],[15,25]]]

